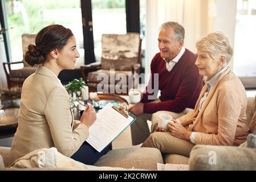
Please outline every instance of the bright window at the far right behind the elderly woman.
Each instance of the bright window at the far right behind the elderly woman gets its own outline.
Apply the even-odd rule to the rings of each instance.
[[[237,1],[234,72],[239,77],[256,77],[256,1]]]

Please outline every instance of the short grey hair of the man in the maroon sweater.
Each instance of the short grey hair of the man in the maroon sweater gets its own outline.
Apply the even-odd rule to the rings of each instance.
[[[165,22],[165,23],[161,24],[160,31],[162,29],[166,29],[166,28],[173,28],[173,31],[175,33],[174,34],[174,39],[184,40],[184,38],[185,38],[185,29],[180,24],[178,24],[177,22]]]

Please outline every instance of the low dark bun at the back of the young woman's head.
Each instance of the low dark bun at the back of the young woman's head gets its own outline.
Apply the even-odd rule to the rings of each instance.
[[[42,64],[43,63],[43,55],[40,52],[39,48],[34,44],[29,44],[27,46],[29,49],[25,54],[25,61],[30,64],[31,66],[35,64]]]

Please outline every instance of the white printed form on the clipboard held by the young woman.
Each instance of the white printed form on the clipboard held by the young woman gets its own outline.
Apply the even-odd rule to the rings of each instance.
[[[95,123],[89,127],[90,135],[86,141],[98,152],[115,140],[136,119],[131,113],[128,114],[128,118],[125,117],[112,106],[119,105],[116,102],[109,102],[97,113]]]

